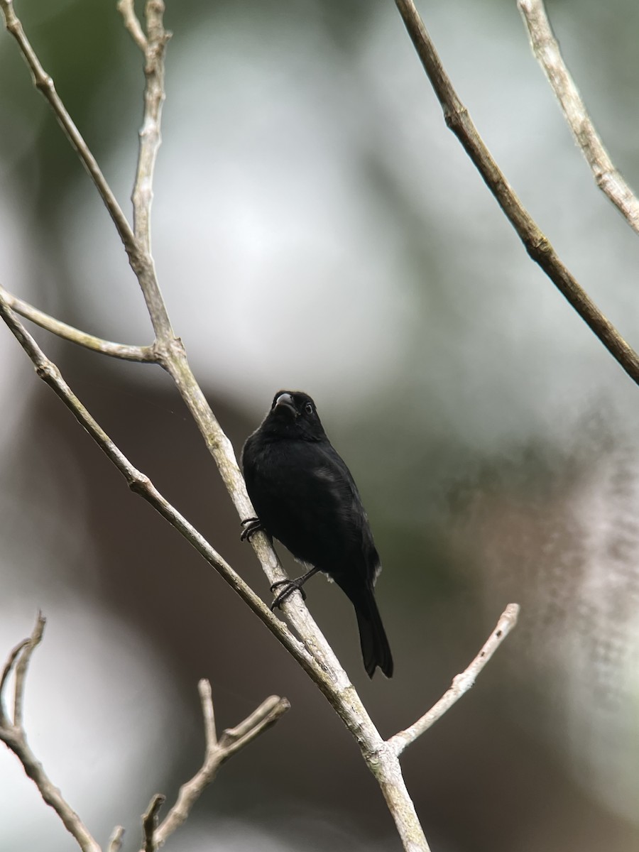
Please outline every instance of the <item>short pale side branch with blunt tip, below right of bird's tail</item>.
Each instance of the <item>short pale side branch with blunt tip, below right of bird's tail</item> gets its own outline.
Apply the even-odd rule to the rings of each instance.
[[[469,691],[469,688],[475,684],[475,680],[481,670],[484,668],[488,660],[491,659],[492,654],[495,653],[501,643],[504,642],[504,639],[508,636],[510,630],[515,627],[518,615],[518,604],[509,603],[509,605],[504,609],[504,612],[501,614],[497,626],[486,639],[484,647],[481,648],[480,653],[477,654],[467,669],[465,669],[461,674],[453,677],[451,688],[447,689],[439,701],[433,705],[428,712],[424,713],[423,717],[417,719],[417,722],[412,724],[410,728],[406,728],[406,730],[400,731],[398,734],[394,734],[394,736],[389,739],[389,746],[391,746],[396,755],[399,756],[406,746],[410,746],[412,742],[417,740],[417,737],[420,737],[424,731],[427,731],[432,725],[434,725],[435,722],[437,722],[437,720],[440,719],[444,713],[446,713],[446,711],[462,697],[463,694]]]

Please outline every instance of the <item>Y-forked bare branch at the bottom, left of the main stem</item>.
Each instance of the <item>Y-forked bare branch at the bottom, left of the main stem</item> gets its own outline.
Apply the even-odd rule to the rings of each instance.
[[[193,778],[181,786],[176,803],[170,809],[162,824],[155,830],[153,846],[145,847],[144,852],[147,852],[147,849],[157,849],[166,843],[170,835],[187,820],[193,805],[216,777],[217,770],[222,766],[222,763],[236,751],[255,740],[267,728],[270,728],[291,706],[287,699],[272,695],[263,701],[244,722],[240,722],[237,728],[225,731],[218,742],[213,723],[213,700],[210,693],[210,682],[201,680],[198,688],[202,701],[206,740],[204,762],[198,772],[193,775]],[[241,734],[235,735],[234,732],[241,732]]]

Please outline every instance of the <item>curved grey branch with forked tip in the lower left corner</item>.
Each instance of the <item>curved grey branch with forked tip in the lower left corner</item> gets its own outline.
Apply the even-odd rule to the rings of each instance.
[[[75,838],[82,852],[101,852],[100,846],[91,836],[78,814],[76,814],[71,805],[62,797],[60,790],[49,780],[42,764],[37,761],[36,756],[27,743],[26,734],[22,727],[26,672],[32,653],[42,639],[44,625],[45,619],[42,613],[37,613],[36,625],[33,628],[32,635],[29,639],[20,642],[20,645],[14,648],[4,665],[3,687],[6,686],[7,677],[14,665],[14,661],[18,660],[15,670],[14,719],[11,722],[4,711],[0,715],[0,741],[18,757],[26,774],[37,786],[40,795],[43,797],[43,801],[55,810],[55,813],[60,817],[60,820],[62,820],[62,823],[66,827],[67,832]]]

